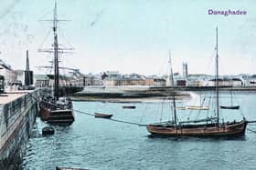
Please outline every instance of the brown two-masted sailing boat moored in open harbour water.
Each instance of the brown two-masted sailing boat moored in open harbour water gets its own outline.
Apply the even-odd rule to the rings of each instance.
[[[172,95],[174,120],[147,125],[149,133],[155,136],[241,136],[246,130],[245,117],[239,122],[219,122],[219,54],[218,28],[216,28],[216,116],[199,120],[177,121],[176,96]],[[173,78],[172,78],[173,81]],[[173,83],[174,85],[174,83]]]

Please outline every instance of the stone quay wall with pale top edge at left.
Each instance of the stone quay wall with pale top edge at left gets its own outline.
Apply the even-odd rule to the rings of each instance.
[[[30,93],[30,94],[28,94]],[[27,140],[38,113],[40,90],[17,91],[0,96],[0,169],[20,169]]]

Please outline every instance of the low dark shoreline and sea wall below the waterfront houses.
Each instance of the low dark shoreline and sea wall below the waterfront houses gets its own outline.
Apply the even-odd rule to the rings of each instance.
[[[114,89],[114,88],[113,88]],[[163,98],[176,93],[176,99],[190,98],[189,92],[214,91],[215,86],[206,87],[150,87],[144,90],[130,88],[130,90],[116,91],[92,90],[82,91],[72,95],[72,101],[76,102],[112,102],[112,103],[141,103],[163,101]],[[254,87],[219,87],[220,91],[255,92]]]

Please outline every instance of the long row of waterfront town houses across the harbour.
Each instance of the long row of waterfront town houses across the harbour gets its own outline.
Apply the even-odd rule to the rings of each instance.
[[[73,73],[60,76],[60,86],[167,86],[167,75],[162,77],[138,74],[121,75],[119,72],[105,72],[98,75]],[[53,75],[35,75],[34,85],[37,87],[52,86]],[[175,86],[214,86],[216,79],[213,75],[174,75]],[[256,75],[220,76],[219,86],[256,86]]]

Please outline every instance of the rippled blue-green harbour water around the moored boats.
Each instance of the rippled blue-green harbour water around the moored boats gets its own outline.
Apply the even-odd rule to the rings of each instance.
[[[202,93],[202,92],[201,92]],[[204,95],[201,94],[201,100]],[[199,95],[195,95],[197,100]],[[195,100],[178,101],[178,106]],[[242,110],[220,110],[220,117],[256,120],[256,93],[236,92]],[[229,103],[229,93],[220,95],[220,103]],[[205,99],[207,104],[208,98]],[[196,102],[197,103],[197,102]],[[236,103],[236,100],[234,100]],[[74,102],[74,108],[91,114],[112,114],[119,119],[139,124],[170,120],[168,102],[101,103]],[[135,105],[136,109],[123,109]],[[209,111],[178,110],[180,120],[210,116]],[[212,115],[213,116],[213,115]],[[221,118],[220,118],[221,122]],[[56,134],[41,136],[46,126],[39,119],[35,134],[29,139],[23,169],[55,169],[72,166],[89,169],[255,169],[256,125],[248,125],[246,135],[239,139],[197,137],[152,138],[144,126],[128,125],[111,120],[76,113],[76,120],[68,127],[55,127]],[[37,131],[36,131],[37,130]]]

